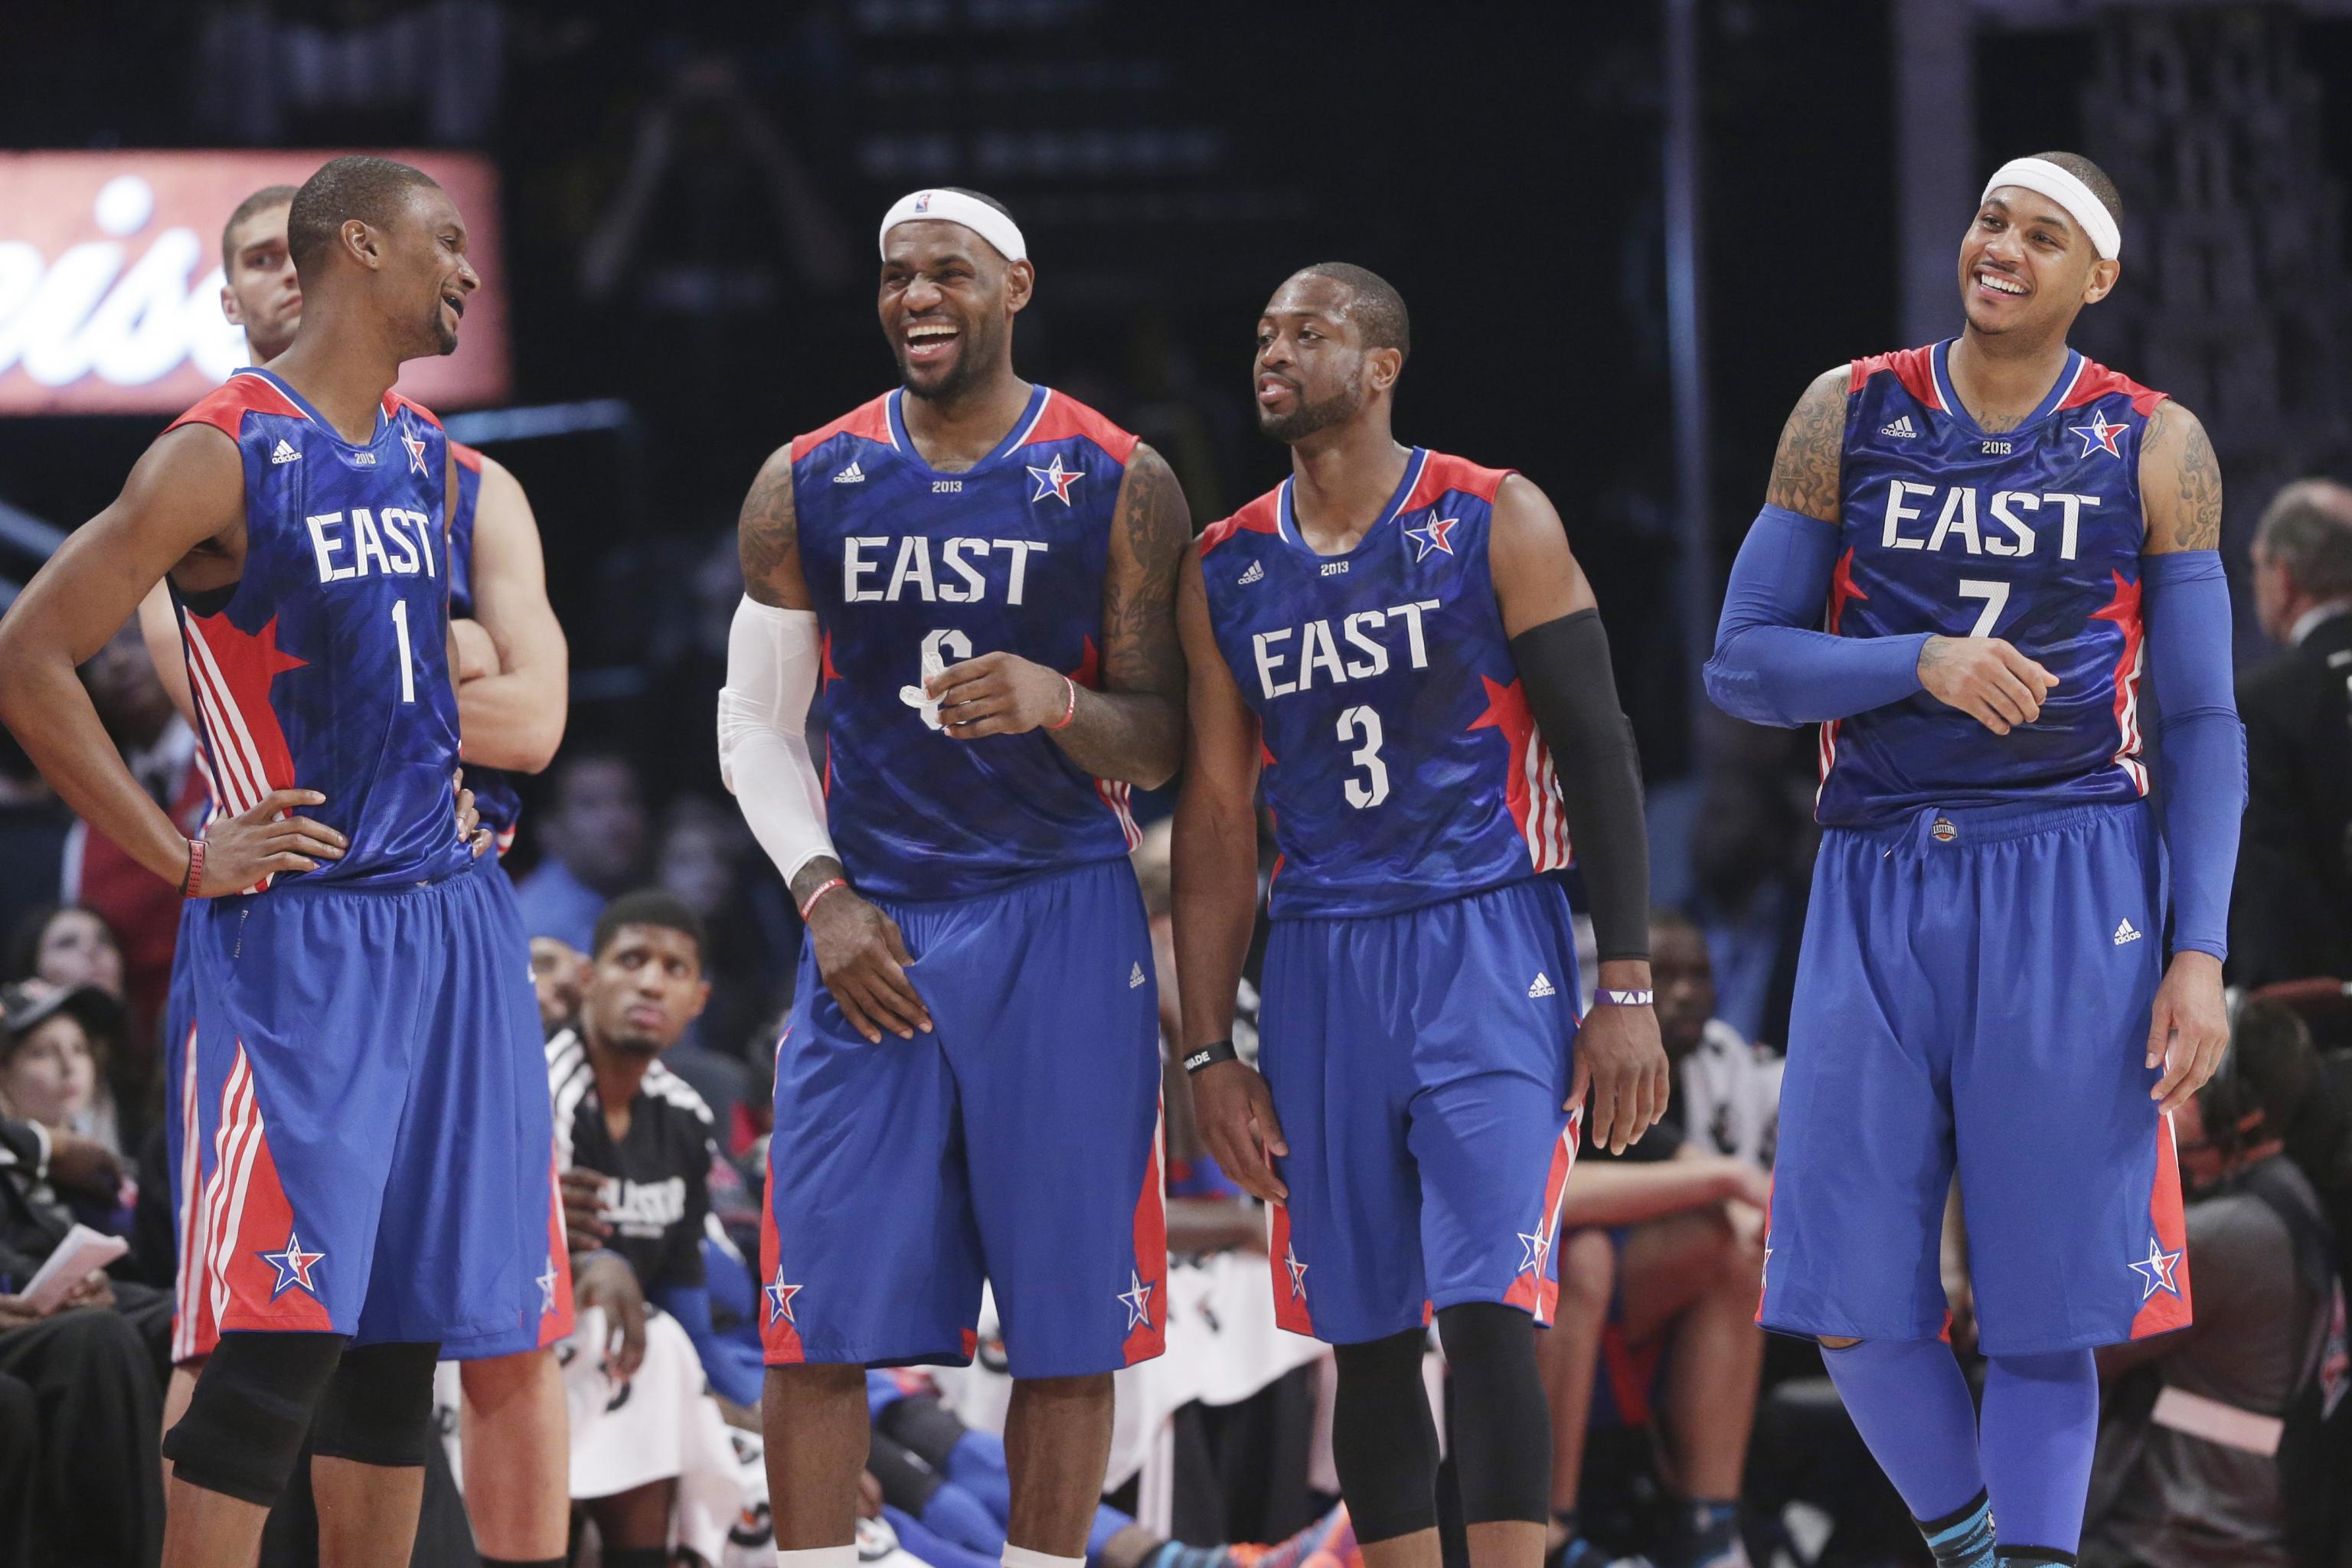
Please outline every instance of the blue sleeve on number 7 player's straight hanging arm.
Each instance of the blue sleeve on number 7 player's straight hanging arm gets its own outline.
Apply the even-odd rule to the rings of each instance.
[[[2230,877],[2246,813],[2246,726],[2230,668],[2230,583],[2218,550],[2140,562],[2147,686],[2171,860],[2173,952],[2230,957]]]

